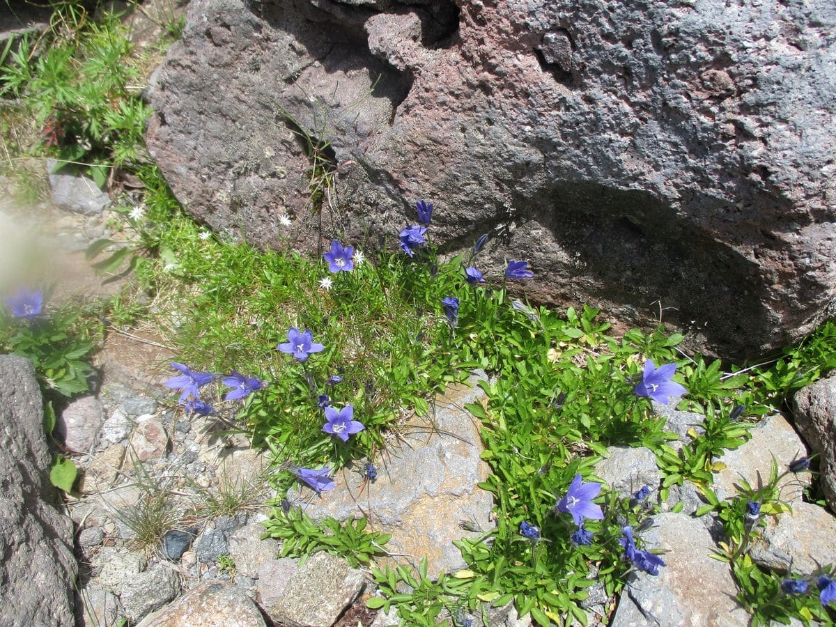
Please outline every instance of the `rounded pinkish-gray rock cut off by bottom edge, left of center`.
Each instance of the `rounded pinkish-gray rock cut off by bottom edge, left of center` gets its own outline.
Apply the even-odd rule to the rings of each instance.
[[[137,627],[265,627],[252,600],[228,583],[206,581]]]

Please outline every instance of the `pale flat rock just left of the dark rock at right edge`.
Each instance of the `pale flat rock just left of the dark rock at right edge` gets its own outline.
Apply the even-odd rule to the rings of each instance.
[[[714,492],[720,499],[735,497],[741,479],[757,488],[769,481],[772,461],[777,462],[778,472],[787,470],[788,464],[805,455],[807,447],[798,433],[780,414],[768,415],[752,428],[752,439],[733,451],[726,451],[716,461],[726,467],[714,474]],[[780,497],[791,505],[801,502],[803,492],[810,485],[809,472],[788,474],[779,482]]]

